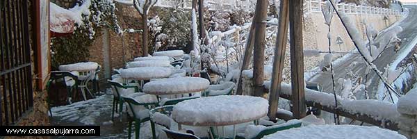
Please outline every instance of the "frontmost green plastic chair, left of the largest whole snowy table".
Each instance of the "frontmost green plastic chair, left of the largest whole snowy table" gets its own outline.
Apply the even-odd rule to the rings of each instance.
[[[135,94],[135,95],[140,97],[140,94]],[[130,95],[129,97],[123,97],[124,101],[126,101],[129,107],[128,108],[128,113],[129,113],[128,138],[131,138],[132,122],[135,122],[135,138],[138,139],[139,133],[140,133],[140,123],[147,122],[150,120],[149,109],[152,108],[152,106],[155,106],[156,103],[142,103],[140,101],[136,101],[136,99],[134,99],[132,96],[133,95]],[[138,111],[138,108],[140,108],[140,106],[143,106],[148,109]]]

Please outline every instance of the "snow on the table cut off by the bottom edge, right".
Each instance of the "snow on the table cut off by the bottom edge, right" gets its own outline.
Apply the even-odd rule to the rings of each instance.
[[[377,126],[355,125],[311,125],[301,128],[277,131],[264,136],[263,139],[316,139],[316,138],[355,138],[355,139],[406,139],[396,131],[381,129]]]

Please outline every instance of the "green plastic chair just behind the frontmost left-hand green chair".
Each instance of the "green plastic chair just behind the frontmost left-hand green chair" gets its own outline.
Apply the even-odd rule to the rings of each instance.
[[[120,113],[120,117],[122,117],[124,99],[122,98],[121,91],[123,89],[134,88],[135,92],[138,92],[139,88],[137,85],[123,85],[122,83],[118,82],[117,79],[107,81],[115,90],[115,92],[113,92],[113,106],[111,113],[111,120],[113,120],[115,112],[117,112],[117,108],[119,108],[118,112]]]

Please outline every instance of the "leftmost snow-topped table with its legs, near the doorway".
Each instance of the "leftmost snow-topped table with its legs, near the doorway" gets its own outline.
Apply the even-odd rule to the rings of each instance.
[[[85,96],[85,91],[90,93],[92,97],[95,97],[92,95],[90,90],[87,88],[87,84],[89,81],[92,81],[93,79],[97,79],[96,76],[96,70],[98,69],[99,64],[95,62],[85,62],[85,63],[74,63],[74,64],[68,64],[68,65],[60,65],[58,69],[60,71],[69,71],[69,72],[79,72],[79,80],[81,80],[81,83],[79,85],[79,88],[81,89],[81,93],[84,97],[84,100],[87,100],[87,97]]]

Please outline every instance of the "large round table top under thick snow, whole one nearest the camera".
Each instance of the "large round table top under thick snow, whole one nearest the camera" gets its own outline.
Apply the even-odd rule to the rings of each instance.
[[[175,105],[172,118],[190,126],[225,126],[251,122],[268,113],[262,97],[222,95],[182,101]]]

